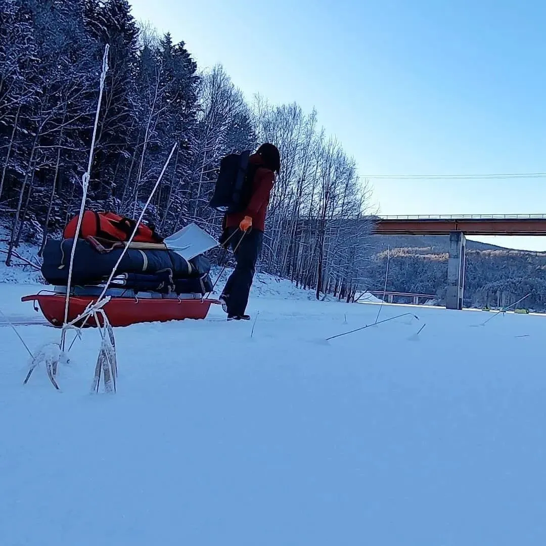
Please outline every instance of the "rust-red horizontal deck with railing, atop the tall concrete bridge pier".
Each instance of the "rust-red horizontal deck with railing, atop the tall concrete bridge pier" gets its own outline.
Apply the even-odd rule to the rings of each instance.
[[[386,216],[378,218],[378,235],[546,235],[546,215]]]

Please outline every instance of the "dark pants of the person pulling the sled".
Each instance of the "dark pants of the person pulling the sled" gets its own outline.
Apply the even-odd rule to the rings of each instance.
[[[233,316],[242,316],[248,304],[256,262],[262,252],[264,234],[259,229],[252,228],[243,236],[243,232],[238,228],[229,228],[225,238],[230,236],[232,238],[228,244],[234,251],[237,265],[228,278],[228,282],[225,283],[222,295],[227,303],[228,313]]]

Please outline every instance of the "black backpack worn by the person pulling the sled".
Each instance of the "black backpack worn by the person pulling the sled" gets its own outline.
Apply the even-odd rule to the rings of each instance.
[[[249,164],[250,151],[230,153],[220,162],[214,194],[209,206],[233,214],[246,209],[252,197],[252,180],[257,165]]]

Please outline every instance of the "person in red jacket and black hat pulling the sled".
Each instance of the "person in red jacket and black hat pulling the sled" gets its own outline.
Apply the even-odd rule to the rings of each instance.
[[[220,300],[228,321],[248,321],[245,314],[248,295],[262,251],[265,218],[275,175],[281,169],[281,156],[276,146],[263,144],[248,158],[252,177],[252,194],[245,211],[224,217],[223,246],[234,251],[236,266],[228,278]]]

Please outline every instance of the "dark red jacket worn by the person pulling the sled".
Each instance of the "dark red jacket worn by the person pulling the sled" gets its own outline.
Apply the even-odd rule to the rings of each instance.
[[[250,163],[263,165],[263,160],[260,155],[254,153],[248,158]],[[242,219],[245,216],[252,218],[252,229],[259,229],[261,232],[265,230],[265,217],[267,215],[271,189],[275,182],[273,171],[259,166],[252,181],[252,197],[250,203],[244,212],[236,214],[228,214],[225,217],[225,227],[239,227]]]

